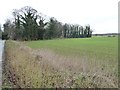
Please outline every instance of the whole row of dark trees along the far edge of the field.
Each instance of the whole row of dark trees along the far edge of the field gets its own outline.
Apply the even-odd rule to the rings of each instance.
[[[13,11],[14,20],[7,20],[2,39],[43,40],[53,38],[88,38],[92,36],[90,25],[63,24],[54,17],[38,14],[37,10],[25,6]]]

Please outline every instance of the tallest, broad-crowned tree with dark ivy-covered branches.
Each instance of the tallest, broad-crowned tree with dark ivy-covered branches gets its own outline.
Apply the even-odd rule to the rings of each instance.
[[[37,14],[37,10],[29,6],[25,6],[20,10],[14,10],[13,14],[15,21],[17,21],[16,31],[20,31],[22,33],[21,36],[24,40],[43,39],[44,26],[46,23],[44,23],[43,17]],[[39,23],[37,22],[38,20]]]

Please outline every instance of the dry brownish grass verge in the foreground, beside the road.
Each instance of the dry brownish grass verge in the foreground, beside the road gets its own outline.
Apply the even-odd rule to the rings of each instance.
[[[19,42],[7,41],[5,57],[5,75],[12,87],[117,88],[117,75],[85,56],[65,57],[48,49],[34,50]]]

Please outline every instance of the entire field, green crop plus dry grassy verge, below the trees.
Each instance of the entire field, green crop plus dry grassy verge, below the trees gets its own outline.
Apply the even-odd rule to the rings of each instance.
[[[7,41],[5,47],[13,87],[118,87],[117,37]]]

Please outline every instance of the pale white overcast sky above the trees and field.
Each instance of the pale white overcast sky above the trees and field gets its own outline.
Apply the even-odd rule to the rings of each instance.
[[[119,0],[0,0],[0,24],[13,9],[31,6],[62,23],[90,25],[93,33],[118,32]]]

